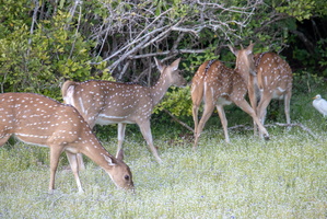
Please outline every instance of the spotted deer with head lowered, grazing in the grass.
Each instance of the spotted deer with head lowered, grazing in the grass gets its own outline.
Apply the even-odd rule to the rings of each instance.
[[[49,193],[55,189],[59,155],[66,152],[79,192],[77,153],[83,153],[103,168],[117,187],[133,188],[132,175],[122,157],[113,157],[100,143],[87,123],[71,105],[33,93],[0,94],[0,147],[14,135],[25,143],[50,148]]]

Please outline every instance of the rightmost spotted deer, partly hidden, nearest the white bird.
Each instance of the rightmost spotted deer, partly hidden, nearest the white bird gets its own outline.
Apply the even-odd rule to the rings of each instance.
[[[234,53],[234,48],[231,50]],[[284,100],[287,123],[290,124],[293,76],[289,64],[275,53],[256,54],[254,59],[256,74],[249,74],[248,80],[248,96],[252,107],[264,125],[271,99]],[[254,129],[256,132],[256,124],[254,124]],[[262,136],[260,130],[259,135]]]

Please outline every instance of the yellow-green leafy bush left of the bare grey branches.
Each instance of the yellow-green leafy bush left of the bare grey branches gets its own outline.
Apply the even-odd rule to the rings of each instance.
[[[30,7],[32,10],[33,4]],[[38,7],[35,10],[38,11]],[[24,7],[22,11],[27,10]],[[49,20],[37,22],[35,15],[25,21],[20,14],[2,18],[7,22],[1,28],[7,34],[0,38],[1,92],[35,92],[59,100],[59,84],[65,79],[109,78],[108,72],[103,71],[105,62],[91,65],[94,43],[81,36],[68,12],[58,10]]]

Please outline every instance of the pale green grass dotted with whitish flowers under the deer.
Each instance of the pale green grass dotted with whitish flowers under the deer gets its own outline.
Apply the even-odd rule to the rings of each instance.
[[[79,195],[70,171],[59,169],[57,191],[47,194],[48,149],[16,143],[0,149],[0,218],[326,218],[327,143],[300,128],[269,129],[272,139],[252,132],[207,129],[197,151],[191,142],[156,138],[164,160],[156,164],[140,138],[125,142],[136,194],[117,189],[89,161]],[[316,128],[315,128],[316,127]],[[104,143],[115,152],[116,139]],[[33,149],[33,150],[32,150]],[[67,165],[62,155],[60,165]]]

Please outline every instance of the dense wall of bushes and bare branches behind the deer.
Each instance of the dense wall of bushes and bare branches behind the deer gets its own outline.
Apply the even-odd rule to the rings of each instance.
[[[188,81],[205,60],[233,67],[227,44],[287,57],[296,76],[327,77],[324,0],[4,0],[0,3],[0,91],[61,100],[67,80],[151,85],[153,57],[183,57]],[[155,112],[190,115],[188,90],[173,90]]]

